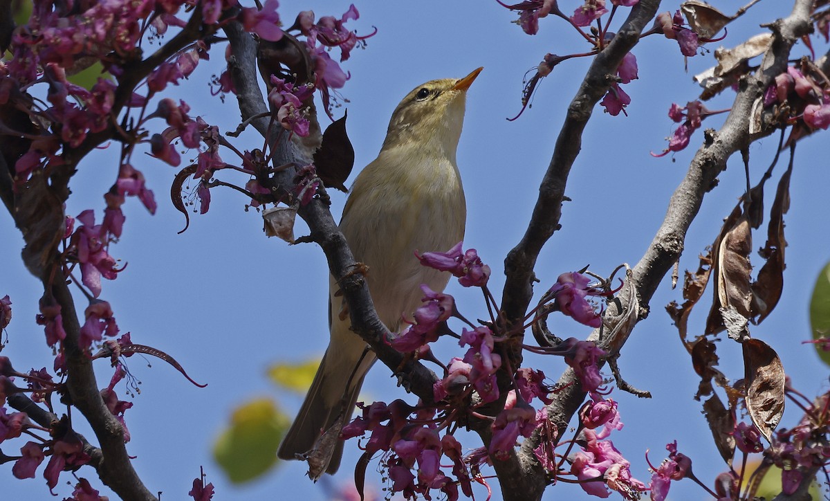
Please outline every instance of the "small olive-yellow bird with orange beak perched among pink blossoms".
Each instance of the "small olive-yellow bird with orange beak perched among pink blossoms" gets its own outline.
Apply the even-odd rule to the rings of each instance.
[[[422,266],[413,253],[446,251],[464,238],[466,203],[456,150],[466,91],[481,70],[461,79],[427,81],[409,92],[389,120],[378,158],[354,180],[346,201],[340,231],[355,260],[368,266],[375,310],[392,332],[421,305],[422,283],[441,292],[450,277]],[[309,472],[314,479],[337,471],[343,441],[315,442],[335,425],[339,435],[375,361],[374,352],[351,332],[338,292],[331,278],[329,347],[277,453],[281,459],[315,456]]]

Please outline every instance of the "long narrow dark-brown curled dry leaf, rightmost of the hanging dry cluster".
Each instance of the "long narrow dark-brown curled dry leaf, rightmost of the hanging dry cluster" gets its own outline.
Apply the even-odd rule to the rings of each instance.
[[[789,179],[793,167],[784,172],[775,191],[773,206],[769,209],[767,243],[758,253],[766,260],[758,272],[758,279],[752,284],[753,312],[758,315],[757,323],[769,316],[781,298],[784,289],[784,214],[789,210]]]

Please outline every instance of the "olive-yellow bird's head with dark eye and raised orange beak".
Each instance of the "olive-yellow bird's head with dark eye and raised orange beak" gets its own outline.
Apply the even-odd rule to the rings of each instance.
[[[395,108],[383,149],[409,144],[437,145],[452,150],[454,157],[464,122],[466,90],[482,69],[464,78],[432,80],[415,87]]]

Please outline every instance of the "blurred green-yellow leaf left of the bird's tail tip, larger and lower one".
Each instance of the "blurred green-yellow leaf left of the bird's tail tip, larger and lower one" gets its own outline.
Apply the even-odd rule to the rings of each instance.
[[[251,400],[233,411],[231,425],[213,445],[213,458],[234,484],[256,479],[277,463],[289,422],[273,401]]]

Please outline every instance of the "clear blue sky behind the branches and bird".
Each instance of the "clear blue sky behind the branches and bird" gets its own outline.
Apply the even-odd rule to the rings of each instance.
[[[579,2],[559,3],[570,12]],[[740,5],[726,3],[730,5],[724,7],[726,12]],[[779,3],[759,3],[745,19],[730,25],[725,42],[711,48],[719,43],[733,46],[763,32],[760,23],[789,13],[789,5]],[[348,2],[284,2],[280,12],[289,25],[300,10],[312,8],[318,17],[339,17],[348,7]],[[543,19],[539,34],[527,36],[510,23],[515,14],[496,2],[476,2],[475,7],[472,2],[365,2],[357,7],[360,19],[349,22],[349,27],[366,33],[374,26],[378,34],[369,39],[365,51],[354,51],[343,65],[351,73],[342,94],[349,100],[344,107],[349,110],[349,137],[357,157],[355,173],[377,155],[389,115],[414,86],[435,78],[465,76],[478,66],[485,68],[468,92],[458,165],[467,199],[465,247],[478,249],[491,266],[491,290],[498,293],[503,283],[501,263],[525,231],[564,111],[589,61],[570,60],[558,66],[542,82],[533,106],[519,120],[505,118],[519,110],[522,76],[545,53],[565,55],[585,52],[587,47],[556,19]],[[662,10],[673,12],[675,8],[674,2],[664,3]],[[822,52],[823,44],[814,43]],[[192,115],[203,115],[223,130],[232,130],[238,119],[234,98],[228,96],[222,104],[209,95],[206,83],[207,77],[220,71],[222,47],[217,49],[210,64],[200,66],[173,95],[190,103]],[[685,104],[699,94],[691,76],[713,66],[711,55],[689,59],[686,72],[676,42],[649,37],[633,52],[640,79],[624,87],[632,96],[628,116],[612,117],[600,108],[594,112],[569,179],[566,194],[573,201],[564,205],[563,228],[544,248],[536,268],[540,290],[549,287],[559,273],[588,264],[595,273],[608,274],[620,263],[636,263],[701,144],[698,131],[689,148],[674,157],[654,159],[649,155],[662,150],[664,138],[671,134],[673,124],[666,115],[671,102]],[[728,107],[731,95],[725,94],[726,99],[707,106]],[[335,115],[341,113],[335,111]],[[704,125],[716,128],[720,120],[722,117],[713,117]],[[754,180],[769,165],[774,141],[765,140],[750,149]],[[793,200],[785,218],[789,248],[784,297],[764,324],[752,328],[754,336],[779,352],[793,385],[806,395],[816,395],[828,386],[827,367],[818,361],[811,346],[800,344],[810,336],[807,312],[813,281],[830,258],[825,217],[830,174],[823,141],[823,136],[817,135],[798,145]],[[247,135],[241,144],[255,148],[261,139]],[[101,195],[117,174],[117,165],[112,162],[115,148],[111,150],[81,165],[67,214],[91,208],[100,217],[104,208]],[[235,406],[267,396],[279,400],[289,414],[299,407],[300,395],[276,389],[267,381],[266,369],[277,361],[303,361],[325,350],[328,279],[323,254],[314,245],[290,247],[276,238],[266,238],[259,214],[246,212],[247,200],[230,190],[215,191],[210,212],[193,217],[188,231],[178,235],[183,217],[166,199],[174,169],[150,157],[137,164],[155,191],[159,211],[150,216],[135,199],[125,205],[124,236],[110,253],[129,266],[115,282],[105,282],[102,298],[110,301],[122,332],[132,332],[134,342],[167,351],[193,379],[208,386],[199,389],[190,385],[161,361],[153,360],[148,367],[137,356],[129,360],[130,370],[142,382],[141,394],[131,400],[134,407],[126,414],[133,436],[129,452],[137,456],[135,467],[152,492],[163,491],[163,499],[183,499],[199,466],[204,466],[208,481],[217,487],[215,499],[328,499],[325,489],[303,476],[302,464],[281,464],[263,479],[234,487],[213,464],[211,455],[212,441]],[[779,165],[776,175],[783,170],[784,165]],[[715,238],[721,219],[729,214],[744,185],[743,168],[736,157],[720,176],[720,184],[707,195],[691,226],[681,268],[696,268],[697,254]],[[770,201],[773,191],[768,189]],[[339,217],[345,197],[333,193],[332,200],[332,212]],[[295,233],[303,231],[298,223]],[[0,245],[0,260],[7,263],[0,272],[0,296],[9,294],[14,308],[14,319],[7,328],[9,343],[2,354],[21,369],[51,366],[42,329],[33,322],[41,292],[35,278],[22,267],[22,239],[5,214],[0,214],[0,232],[8,235]],[[755,237],[754,248],[759,248],[765,235],[760,232]],[[754,258],[757,266],[759,259]],[[455,295],[466,317],[484,316],[481,298],[474,291],[453,281],[447,292]],[[680,300],[681,292],[672,291],[666,278],[652,299],[650,316],[623,348],[619,361],[623,376],[632,385],[651,390],[654,398],[638,400],[614,390],[612,396],[620,403],[625,427],[611,439],[632,462],[635,477],[644,481],[649,477],[645,450],[651,449],[652,462],[659,462],[665,457],[666,443],[677,440],[681,452],[694,461],[698,478],[711,484],[724,465],[712,445],[701,405],[692,400],[697,381],[691,361],[663,311],[673,299]],[[708,304],[698,310],[691,319],[691,332],[701,332]],[[564,318],[552,320],[551,326],[564,337],[589,333],[588,327]],[[442,346],[445,357],[452,356],[452,343]],[[722,341],[719,348],[721,369],[733,380],[742,377],[739,346]],[[553,379],[563,368],[559,359],[528,360]],[[101,363],[100,386],[106,386],[110,376],[105,362]],[[368,400],[403,396],[383,366],[375,367],[367,381]],[[124,398],[123,391],[120,395]],[[794,425],[797,419],[798,413],[788,410],[783,425]],[[477,445],[474,439],[473,445]],[[354,446],[347,445],[347,449]],[[4,452],[13,451],[4,447]],[[351,478],[350,464],[357,457],[356,451],[347,453],[333,479],[335,484]],[[10,464],[2,468],[11,474]],[[94,476],[88,469],[80,473]],[[379,487],[374,466],[369,474],[369,482]],[[61,476],[61,480],[69,479],[69,474]],[[3,490],[8,499],[48,499],[44,483],[39,472],[37,479],[6,481]],[[59,485],[58,492],[66,496],[71,488]],[[563,484],[550,488],[545,499],[561,499],[565,493],[570,493],[570,498],[581,490]],[[691,482],[683,481],[672,486],[670,497],[703,499],[702,494]],[[479,491],[478,496],[484,499],[485,494]]]

